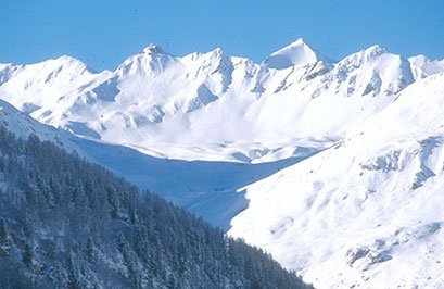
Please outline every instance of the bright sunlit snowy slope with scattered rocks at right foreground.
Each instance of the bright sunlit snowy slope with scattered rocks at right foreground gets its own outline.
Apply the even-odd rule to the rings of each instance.
[[[319,288],[443,288],[444,74],[248,186],[229,234]]]

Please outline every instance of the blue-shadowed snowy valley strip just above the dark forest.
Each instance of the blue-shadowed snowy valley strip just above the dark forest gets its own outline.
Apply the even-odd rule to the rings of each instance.
[[[22,138],[35,134],[42,140],[99,163],[224,230],[228,230],[231,218],[248,206],[241,188],[318,152],[314,148],[297,147],[294,158],[263,164],[155,158],[42,125],[2,100],[0,124]]]

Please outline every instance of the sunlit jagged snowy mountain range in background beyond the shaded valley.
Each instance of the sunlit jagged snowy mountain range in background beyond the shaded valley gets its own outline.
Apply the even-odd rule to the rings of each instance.
[[[114,72],[68,56],[0,65],[0,98],[46,124],[152,155],[265,162],[297,146],[328,147],[422,71],[440,71],[429,66],[378,46],[333,63],[302,39],[262,64],[151,45]]]

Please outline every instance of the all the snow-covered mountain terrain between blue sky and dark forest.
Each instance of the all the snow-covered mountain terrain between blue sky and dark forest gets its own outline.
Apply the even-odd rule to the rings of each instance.
[[[215,225],[243,210],[229,234],[317,287],[440,288],[443,73],[379,46],[335,62],[297,39],[258,64],[152,45],[114,72],[0,64],[0,99]]]

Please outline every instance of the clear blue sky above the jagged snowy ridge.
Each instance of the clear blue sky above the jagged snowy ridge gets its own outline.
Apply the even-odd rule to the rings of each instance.
[[[0,63],[68,54],[114,70],[152,42],[259,62],[300,37],[337,60],[375,43],[443,59],[444,1],[0,0]]]

